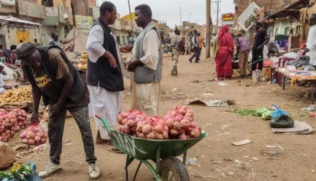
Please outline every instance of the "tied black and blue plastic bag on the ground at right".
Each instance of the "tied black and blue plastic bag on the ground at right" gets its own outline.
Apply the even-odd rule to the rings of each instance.
[[[276,105],[273,105],[276,110],[272,113],[270,122],[271,128],[293,128],[294,121],[288,116],[288,113],[280,110]]]

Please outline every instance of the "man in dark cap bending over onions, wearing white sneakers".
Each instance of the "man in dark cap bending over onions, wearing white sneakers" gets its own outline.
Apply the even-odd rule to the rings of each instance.
[[[48,138],[50,161],[39,173],[47,177],[62,170],[60,155],[63,145],[65,116],[68,110],[75,118],[81,133],[90,179],[100,177],[94,156],[93,137],[88,116],[89,92],[85,81],[72,65],[64,51],[56,45],[35,47],[21,43],[16,49],[25,77],[31,83],[33,113],[31,121],[38,122],[39,104],[42,97],[48,105]]]

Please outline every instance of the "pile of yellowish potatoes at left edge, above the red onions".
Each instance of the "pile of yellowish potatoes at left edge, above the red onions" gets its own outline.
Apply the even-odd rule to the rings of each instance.
[[[32,88],[26,86],[19,89],[12,89],[5,91],[0,95],[0,104],[5,103],[26,103],[32,102]]]

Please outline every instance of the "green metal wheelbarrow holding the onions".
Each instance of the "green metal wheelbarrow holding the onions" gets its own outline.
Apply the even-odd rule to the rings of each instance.
[[[127,155],[125,164],[126,181],[128,181],[128,166],[136,159],[139,161],[133,181],[142,164],[145,164],[155,177],[156,181],[189,181],[186,165],[187,151],[198,141],[208,136],[202,132],[199,138],[194,139],[166,139],[154,140],[129,136],[112,130],[108,123],[99,115],[95,115],[102,121],[111,137],[113,144]],[[177,156],[183,154],[181,162]],[[149,162],[156,164],[156,169]]]

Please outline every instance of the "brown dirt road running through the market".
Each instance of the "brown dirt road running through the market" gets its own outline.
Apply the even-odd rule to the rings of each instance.
[[[213,59],[205,60],[204,57],[202,53],[201,63],[195,64],[188,61],[188,55],[180,56],[177,77],[170,75],[171,59],[164,58],[161,82],[160,114],[183,104],[183,100],[195,97],[232,99],[236,102],[230,107],[190,106],[195,111],[197,123],[210,134],[189,151],[188,158],[197,159],[195,165],[187,165],[191,181],[315,181],[316,143],[313,134],[274,135],[268,122],[257,117],[238,116],[232,112],[234,107],[270,107],[275,103],[296,120],[306,121],[315,127],[315,119],[308,118],[307,112],[301,110],[311,103],[304,97],[307,90],[294,86],[282,91],[276,84],[253,85],[250,79],[238,79],[237,72],[233,80],[225,81],[228,86],[219,86],[218,82],[208,82],[215,78],[215,64]],[[197,80],[200,82],[193,83]],[[125,79],[123,110],[129,109],[129,82]],[[95,133],[92,120],[91,126]],[[231,144],[246,138],[253,142],[239,147]],[[64,142],[61,158],[64,170],[45,181],[88,180],[79,129],[72,118],[66,121]],[[284,149],[267,147],[276,144]],[[96,145],[95,152],[102,171],[99,181],[123,181],[125,155],[108,152],[105,145]],[[276,155],[260,154],[264,152]],[[48,161],[48,148],[40,154],[32,153],[21,159],[22,162],[30,160],[37,164],[39,170],[42,169]],[[135,171],[136,166],[134,164],[130,167],[130,173]],[[143,166],[137,181],[152,180],[150,172]]]

